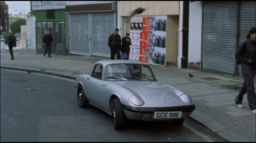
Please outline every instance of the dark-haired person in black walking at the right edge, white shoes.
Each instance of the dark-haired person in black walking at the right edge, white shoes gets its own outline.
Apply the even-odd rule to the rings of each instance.
[[[241,73],[244,77],[244,83],[239,90],[238,96],[235,98],[234,103],[243,108],[242,100],[244,94],[247,92],[248,104],[251,112],[256,112],[255,101],[255,88],[254,88],[254,76],[255,76],[255,42],[256,31],[255,27],[252,27],[246,36],[246,40],[240,43],[238,50],[236,51],[235,58],[241,61]]]

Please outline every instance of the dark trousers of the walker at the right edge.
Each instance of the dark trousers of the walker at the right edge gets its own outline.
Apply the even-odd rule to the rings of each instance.
[[[255,88],[254,88],[254,76],[255,76],[255,67],[250,65],[241,64],[241,73],[244,77],[244,83],[239,90],[238,96],[236,96],[235,103],[242,104],[243,96],[247,92],[247,100],[250,107],[250,110],[255,109],[256,100],[255,100]]]

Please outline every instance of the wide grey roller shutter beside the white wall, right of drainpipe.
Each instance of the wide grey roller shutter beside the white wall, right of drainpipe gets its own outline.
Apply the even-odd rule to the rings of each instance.
[[[236,2],[204,2],[202,71],[234,74]]]

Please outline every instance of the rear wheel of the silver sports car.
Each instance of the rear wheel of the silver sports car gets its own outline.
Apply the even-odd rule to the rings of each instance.
[[[77,104],[80,108],[86,108],[89,105],[88,100],[86,99],[85,93],[84,93],[84,88],[80,84],[77,88]]]

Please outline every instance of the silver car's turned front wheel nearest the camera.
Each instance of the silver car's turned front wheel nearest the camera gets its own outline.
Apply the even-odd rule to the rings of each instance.
[[[114,102],[114,129],[121,130],[124,129],[125,125],[125,115],[122,109],[122,104],[118,98],[115,98]]]

